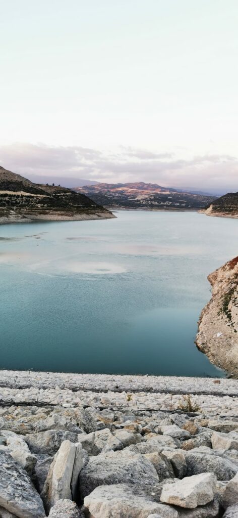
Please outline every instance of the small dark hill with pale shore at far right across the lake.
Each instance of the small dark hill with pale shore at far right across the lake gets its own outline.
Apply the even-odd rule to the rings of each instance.
[[[217,198],[201,212],[208,216],[238,218],[238,192],[228,193]]]

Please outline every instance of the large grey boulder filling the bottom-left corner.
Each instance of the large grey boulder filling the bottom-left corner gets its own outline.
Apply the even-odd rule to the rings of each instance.
[[[43,518],[44,507],[27,473],[0,452],[0,506],[19,518]]]

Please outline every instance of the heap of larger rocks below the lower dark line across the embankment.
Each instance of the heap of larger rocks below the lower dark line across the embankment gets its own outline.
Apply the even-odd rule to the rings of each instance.
[[[234,518],[238,418],[0,407],[0,518]]]

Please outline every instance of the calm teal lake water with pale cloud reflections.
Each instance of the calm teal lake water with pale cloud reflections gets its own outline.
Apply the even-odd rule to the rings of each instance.
[[[224,376],[194,339],[238,221],[116,215],[0,226],[0,368]]]

